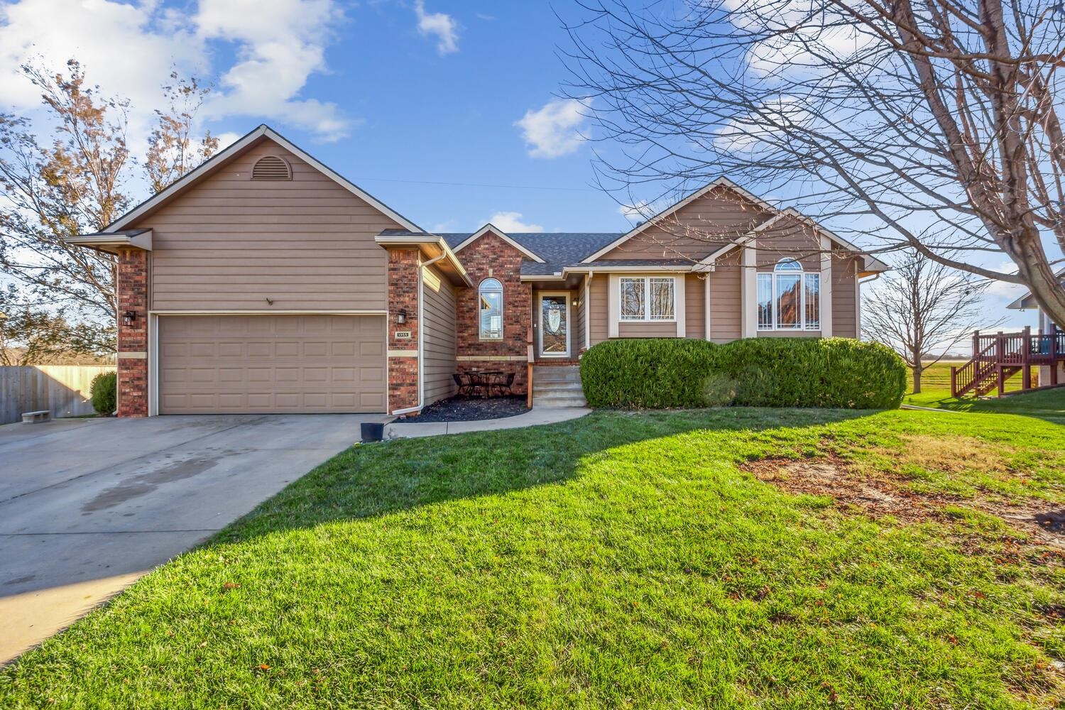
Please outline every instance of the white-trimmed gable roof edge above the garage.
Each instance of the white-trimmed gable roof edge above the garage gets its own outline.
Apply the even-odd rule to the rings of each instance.
[[[316,169],[318,172],[322,172],[323,175],[331,179],[333,182],[339,184],[347,192],[351,193],[359,199],[367,202],[374,209],[378,210],[379,212],[387,215],[391,219],[395,220],[399,225],[403,225],[405,229],[409,229],[415,232],[423,231],[421,227],[412,222],[410,219],[407,219],[402,214],[399,214],[389,205],[384,204],[376,197],[374,197],[370,193],[365,192],[364,189],[356,185],[350,180],[344,178],[332,168],[318,162],[317,160],[312,158],[309,153],[307,153],[305,150],[296,146],[294,143],[282,136],[280,133],[278,133],[271,127],[263,123],[259,126],[259,128],[255,129],[250,133],[237,139],[232,145],[228,146],[225,150],[222,150],[212,155],[209,160],[203,162],[197,168],[185,174],[185,176],[182,177],[180,180],[177,180],[165,189],[155,193],[154,195],[146,199],[144,202],[141,202],[141,204],[136,205],[135,208],[124,214],[121,217],[119,217],[115,221],[104,227],[103,232],[117,232],[128,227],[131,222],[135,221],[140,217],[143,217],[149,212],[155,210],[158,207],[160,207],[170,198],[175,197],[176,195],[184,191],[193,183],[214,172],[216,169],[222,167],[226,162],[228,162],[229,159],[234,158],[235,155],[239,155],[240,153],[244,152],[246,148],[251,146],[259,138],[263,137],[269,138],[271,141],[278,144],[289,152],[293,153],[294,155],[297,155],[301,161],[304,161],[305,163]]]

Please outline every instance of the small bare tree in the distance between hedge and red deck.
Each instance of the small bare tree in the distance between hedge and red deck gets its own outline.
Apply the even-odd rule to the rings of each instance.
[[[894,348],[914,374],[914,394],[921,373],[988,323],[980,297],[989,282],[944,266],[921,253],[908,255],[866,296],[862,334]]]

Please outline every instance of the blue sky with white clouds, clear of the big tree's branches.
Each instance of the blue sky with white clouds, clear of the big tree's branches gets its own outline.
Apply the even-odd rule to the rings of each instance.
[[[132,100],[136,151],[173,66],[214,82],[201,115],[224,141],[269,123],[424,228],[625,231],[592,186],[592,146],[611,147],[556,98],[566,45],[542,1],[0,0],[0,111],[38,110],[20,63],[76,56]],[[1004,311],[1017,291],[996,284],[989,312],[1034,324]]]

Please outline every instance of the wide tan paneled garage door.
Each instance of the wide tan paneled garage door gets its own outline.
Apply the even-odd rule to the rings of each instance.
[[[160,316],[159,409],[383,412],[384,363],[384,316]]]

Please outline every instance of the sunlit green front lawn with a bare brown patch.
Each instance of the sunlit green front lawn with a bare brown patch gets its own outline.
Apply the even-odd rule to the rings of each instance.
[[[1065,427],[1022,414],[359,446],[0,671],[0,707],[1059,707],[1031,515],[1063,508]]]

